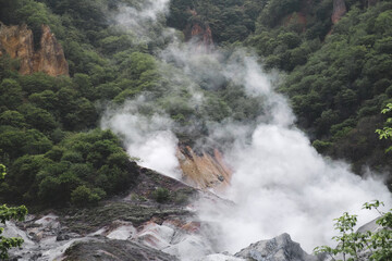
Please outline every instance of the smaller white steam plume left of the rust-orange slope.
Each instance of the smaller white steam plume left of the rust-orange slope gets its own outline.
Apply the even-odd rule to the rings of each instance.
[[[171,132],[172,120],[164,114],[140,114],[144,97],[126,102],[121,109],[107,110],[102,128],[110,128],[123,138],[126,151],[140,161],[139,165],[180,179],[175,157],[177,138]]]

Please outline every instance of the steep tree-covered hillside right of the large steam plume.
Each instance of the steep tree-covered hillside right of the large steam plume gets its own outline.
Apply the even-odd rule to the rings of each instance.
[[[327,4],[327,1],[322,2],[320,4]],[[317,4],[315,7],[317,9]],[[392,5],[383,1],[369,9],[348,7],[350,11],[334,25],[322,47],[318,44],[302,52],[306,53],[303,63],[290,65],[285,61],[291,61],[294,53],[291,50],[317,39],[302,38],[299,47],[294,49],[286,41],[281,44],[285,47],[278,50],[275,41],[282,39],[277,37],[278,32],[282,36],[283,32],[294,34],[289,28],[260,27],[264,29],[250,37],[249,44],[260,46],[258,51],[267,55],[268,66],[271,62],[272,66],[292,71],[281,90],[291,97],[299,125],[315,139],[329,145],[321,148],[319,141],[315,142],[320,152],[350,160],[356,172],[360,172],[363,164],[381,170],[392,164],[391,159],[382,153],[390,145],[378,140],[371,128],[382,125],[379,111],[390,102],[392,92],[389,94],[388,88],[392,79],[392,57],[387,44],[390,30],[375,23],[377,20],[388,23]],[[316,21],[326,18],[320,15],[316,12]],[[305,34],[310,25],[306,25]],[[274,45],[269,45],[269,41]],[[270,55],[272,60],[268,59]]]

